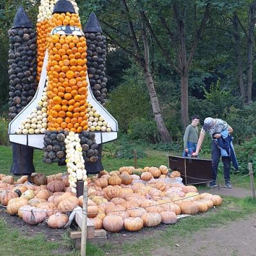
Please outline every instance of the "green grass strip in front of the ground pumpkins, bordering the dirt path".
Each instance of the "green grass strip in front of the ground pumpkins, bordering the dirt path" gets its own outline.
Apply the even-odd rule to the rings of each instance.
[[[164,230],[156,230],[152,236],[138,236],[124,243],[107,243],[104,246],[92,246],[88,244],[86,255],[151,255],[153,248],[168,248],[173,246],[173,237],[192,236],[193,232],[209,227],[220,227],[229,221],[241,220],[255,213],[256,202],[251,198],[225,197],[223,205],[212,209],[205,214],[179,220],[176,225],[168,225]],[[17,218],[17,217],[13,217]],[[25,224],[24,224],[25,225]],[[239,230],[237,230],[239,232]],[[44,236],[36,235],[32,238],[22,236],[19,231],[1,219],[0,220],[0,255],[6,256],[78,256],[79,250],[75,250],[68,237],[63,237],[60,242],[47,241]],[[38,250],[40,248],[40,250]],[[107,254],[108,253],[108,254]]]

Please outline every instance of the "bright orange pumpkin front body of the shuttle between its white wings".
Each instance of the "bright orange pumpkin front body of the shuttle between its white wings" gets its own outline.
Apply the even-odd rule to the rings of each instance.
[[[75,12],[53,13],[50,22],[53,28],[72,27],[66,27],[67,30],[64,29],[61,32],[56,30],[57,33],[53,31],[49,39],[48,130],[81,132],[88,129],[86,39]],[[82,36],[67,35],[68,29],[76,29]],[[66,35],[60,35],[63,33]]]

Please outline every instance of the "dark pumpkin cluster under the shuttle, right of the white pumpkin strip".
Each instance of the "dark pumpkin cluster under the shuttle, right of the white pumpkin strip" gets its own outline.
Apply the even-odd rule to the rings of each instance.
[[[96,162],[99,159],[98,144],[94,132],[83,131],[79,134],[84,162]]]

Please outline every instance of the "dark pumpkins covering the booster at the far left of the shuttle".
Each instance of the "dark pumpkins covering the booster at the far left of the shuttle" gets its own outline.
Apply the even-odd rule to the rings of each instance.
[[[9,117],[13,119],[36,92],[36,32],[32,28],[13,28],[9,36]]]

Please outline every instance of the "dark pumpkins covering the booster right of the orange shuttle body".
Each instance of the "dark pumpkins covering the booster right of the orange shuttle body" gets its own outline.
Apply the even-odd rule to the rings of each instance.
[[[106,36],[101,33],[85,33],[87,44],[87,67],[93,95],[104,105],[107,97]]]

